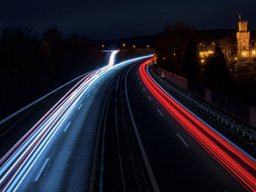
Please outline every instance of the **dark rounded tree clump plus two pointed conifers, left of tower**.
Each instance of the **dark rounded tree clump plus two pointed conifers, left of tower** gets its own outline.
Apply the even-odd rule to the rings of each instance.
[[[200,38],[203,37],[197,34],[195,28],[185,23],[167,24],[165,32],[155,39],[158,64],[170,72],[187,77],[192,82],[223,91],[230,83],[230,70],[221,45],[215,44],[214,54],[209,55],[202,64],[197,48]]]

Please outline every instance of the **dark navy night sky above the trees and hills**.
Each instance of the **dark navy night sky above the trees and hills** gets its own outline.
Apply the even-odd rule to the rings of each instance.
[[[2,0],[0,27],[57,26],[64,34],[111,39],[156,34],[177,20],[197,29],[237,28],[239,12],[256,29],[256,0]]]

